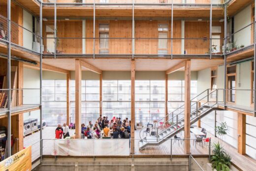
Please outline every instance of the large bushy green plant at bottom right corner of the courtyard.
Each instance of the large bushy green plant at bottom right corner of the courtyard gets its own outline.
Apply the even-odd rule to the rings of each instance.
[[[213,156],[211,157],[212,169],[217,171],[230,171],[231,156],[226,153],[220,142],[213,144]]]

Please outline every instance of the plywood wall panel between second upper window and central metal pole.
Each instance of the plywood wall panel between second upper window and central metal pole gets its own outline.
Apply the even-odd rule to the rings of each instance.
[[[129,20],[111,20],[109,37],[111,38],[131,38],[132,22]],[[109,54],[131,54],[131,39],[110,39]]]

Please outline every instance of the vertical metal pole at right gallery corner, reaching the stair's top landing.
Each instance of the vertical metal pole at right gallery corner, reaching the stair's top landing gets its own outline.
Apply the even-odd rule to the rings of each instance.
[[[224,109],[226,107],[226,3],[224,4]]]

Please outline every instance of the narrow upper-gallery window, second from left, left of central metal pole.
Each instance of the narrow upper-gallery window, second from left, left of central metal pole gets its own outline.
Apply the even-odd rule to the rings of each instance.
[[[99,24],[99,54],[109,52],[109,24]]]

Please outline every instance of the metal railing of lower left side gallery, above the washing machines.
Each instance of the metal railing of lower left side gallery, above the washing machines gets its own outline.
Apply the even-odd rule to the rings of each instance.
[[[0,113],[8,111],[9,94],[11,109],[21,105],[40,105],[40,89],[0,89]]]

